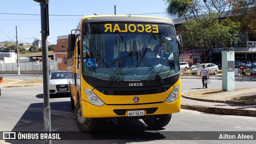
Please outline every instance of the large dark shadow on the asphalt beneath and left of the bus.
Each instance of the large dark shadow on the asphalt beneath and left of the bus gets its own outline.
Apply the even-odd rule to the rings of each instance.
[[[42,94],[38,94],[37,98],[42,98]],[[22,115],[20,120],[12,129],[12,132],[26,132],[43,133],[44,132],[44,116],[43,103],[30,104],[26,112]],[[161,134],[158,132],[161,129],[149,128],[140,120],[123,120],[118,121],[119,124],[113,122],[103,122],[102,127],[98,132],[93,134],[85,134],[79,132],[75,118],[74,110],[70,108],[70,102],[51,102],[51,130],[60,134],[62,140],[122,140],[122,143],[130,143],[133,140],[148,141],[148,140],[162,140],[169,133]],[[152,131],[152,132],[147,132]],[[166,136],[165,136],[166,135]],[[63,144],[62,140],[54,140],[54,143]],[[12,144],[34,144],[44,143],[44,140],[6,140]],[[72,141],[71,141],[72,142]],[[95,142],[95,141],[94,141]],[[69,141],[70,143],[70,141]],[[73,142],[72,142],[73,143]],[[74,143],[76,143],[74,141]],[[108,141],[104,141],[108,143]],[[120,143],[120,142],[114,142]]]

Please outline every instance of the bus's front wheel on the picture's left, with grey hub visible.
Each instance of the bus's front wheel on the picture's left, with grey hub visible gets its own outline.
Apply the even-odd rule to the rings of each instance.
[[[76,103],[75,119],[80,132],[84,132],[86,134],[96,131],[100,127],[102,121],[101,118],[84,118],[81,113],[79,102]]]

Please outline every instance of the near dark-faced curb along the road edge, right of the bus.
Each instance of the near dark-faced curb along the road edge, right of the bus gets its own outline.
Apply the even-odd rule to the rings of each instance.
[[[210,114],[221,114],[221,115],[235,115],[235,116],[252,116],[256,117],[255,110],[237,110],[227,108],[215,108],[208,106],[195,106],[190,104],[181,104],[182,109],[196,110],[198,112],[205,112]]]

